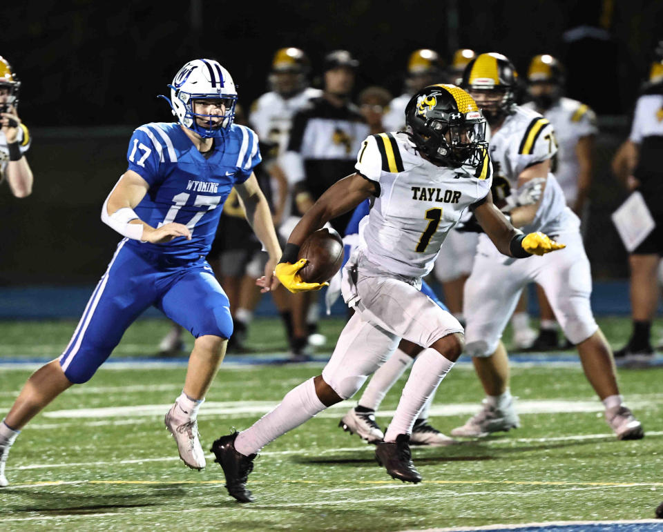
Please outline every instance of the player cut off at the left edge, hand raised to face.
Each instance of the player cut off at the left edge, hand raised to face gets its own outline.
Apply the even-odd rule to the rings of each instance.
[[[32,193],[32,170],[25,157],[30,132],[18,114],[21,82],[7,59],[0,56],[0,183],[7,180],[12,194]]]

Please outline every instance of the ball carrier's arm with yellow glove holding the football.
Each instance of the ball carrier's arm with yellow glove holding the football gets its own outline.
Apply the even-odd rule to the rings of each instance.
[[[329,187],[300,219],[288,239],[275,270],[281,284],[291,292],[319,290],[325,286],[327,283],[302,282],[298,271],[306,265],[306,259],[297,260],[300,246],[309,235],[324,226],[327,221],[347,213],[367,197],[378,193],[378,185],[360,174],[344,177]]]

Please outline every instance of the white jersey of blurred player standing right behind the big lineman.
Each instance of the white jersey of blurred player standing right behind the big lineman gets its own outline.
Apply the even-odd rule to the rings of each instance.
[[[532,102],[523,107],[534,109]],[[575,146],[579,139],[596,135],[596,115],[582,102],[560,98],[557,103],[544,112],[544,118],[550,120],[555,128],[555,139],[557,139],[557,157],[554,168],[555,178],[564,191],[566,203],[575,204],[578,195],[578,171],[580,164],[575,152]]]

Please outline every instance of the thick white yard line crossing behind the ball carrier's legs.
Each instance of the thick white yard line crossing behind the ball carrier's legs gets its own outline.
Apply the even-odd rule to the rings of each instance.
[[[274,401],[224,401],[224,402],[205,402],[202,406],[200,415],[263,415],[276,406],[280,400]],[[663,397],[658,400],[643,400],[629,402],[632,408],[651,408],[653,404],[663,403]],[[135,417],[135,416],[153,416],[160,415],[168,411],[173,406],[169,404],[143,404],[137,406],[106,406],[102,408],[73,408],[70,410],[55,410],[44,413],[44,417],[57,419],[69,417],[73,419],[100,417]],[[519,414],[541,414],[541,413],[587,413],[602,412],[604,406],[599,400],[518,400],[515,403],[516,411]],[[459,404],[438,404],[430,409],[431,417],[448,417],[454,415],[474,414],[479,410],[478,403],[459,403]],[[336,417],[338,411],[344,411],[348,408],[343,402],[327,408],[325,413],[320,413],[316,417]],[[378,412],[378,417],[390,417],[395,413],[394,410],[385,410]]]

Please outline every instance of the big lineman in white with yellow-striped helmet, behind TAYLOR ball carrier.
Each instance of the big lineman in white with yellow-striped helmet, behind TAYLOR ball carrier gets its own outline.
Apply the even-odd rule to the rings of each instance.
[[[501,335],[523,286],[536,282],[544,288],[566,337],[577,346],[585,375],[602,400],[606,421],[617,438],[640,439],[642,426],[619,395],[613,354],[590,306],[592,278],[579,219],[566,206],[564,193],[550,173],[550,161],[557,152],[553,126],[534,110],[515,105],[516,81],[512,63],[497,53],[479,55],[463,75],[463,86],[490,126],[494,190],[503,190],[506,204],[517,205],[513,199],[523,184],[535,179],[544,183],[537,203],[510,210],[512,224],[526,232],[559,237],[566,248],[546,259],[514,261],[501,256],[488,235],[480,235],[472,275],[465,284],[465,342],[486,399],[481,411],[451,434],[483,436],[519,426]]]

